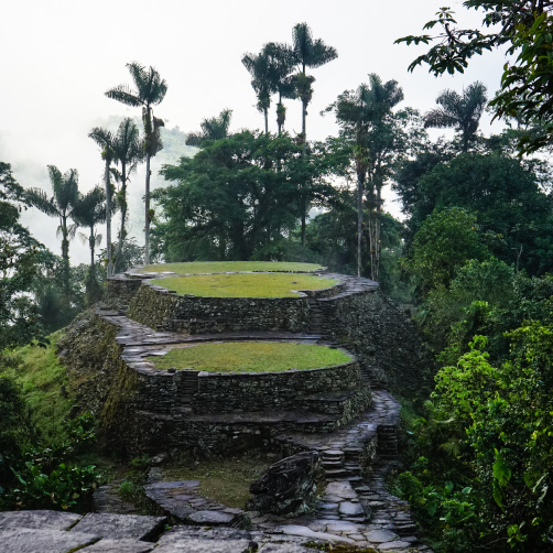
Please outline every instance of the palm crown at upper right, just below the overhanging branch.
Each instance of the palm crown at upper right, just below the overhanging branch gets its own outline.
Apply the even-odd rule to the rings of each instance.
[[[486,93],[486,86],[478,80],[463,90],[463,96],[455,90],[444,90],[436,98],[436,104],[441,107],[424,115],[424,127],[454,127],[460,133],[460,149],[466,152],[476,138],[478,123],[488,101]]]

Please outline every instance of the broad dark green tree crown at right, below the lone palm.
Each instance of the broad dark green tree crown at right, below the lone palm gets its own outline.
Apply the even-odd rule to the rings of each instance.
[[[540,165],[501,153],[440,152],[403,165],[397,191],[416,232],[435,210],[460,207],[476,215],[482,240],[499,259],[531,274],[552,269],[552,198],[541,189]]]

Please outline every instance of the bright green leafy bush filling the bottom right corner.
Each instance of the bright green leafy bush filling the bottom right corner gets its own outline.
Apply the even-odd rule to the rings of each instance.
[[[468,546],[477,542],[487,551],[509,551],[511,546],[544,551],[553,528],[549,494],[553,329],[531,323],[512,330],[508,338],[511,349],[502,362],[490,364],[485,338],[476,337],[456,366],[438,371],[434,415],[447,413],[453,421],[449,433],[460,438],[459,454],[446,464],[436,451],[438,441],[424,442],[421,446],[427,460],[415,463],[411,473],[402,475],[398,489],[416,506],[421,521],[432,525],[436,536],[454,524],[465,532]],[[424,424],[427,435],[431,423]],[[459,498],[449,503],[443,495],[436,497],[438,482],[447,487],[447,480],[453,482],[452,489],[470,482],[469,497],[460,505],[456,505]],[[452,507],[453,514],[441,516],[437,522],[435,513]],[[476,519],[469,514],[475,510]]]

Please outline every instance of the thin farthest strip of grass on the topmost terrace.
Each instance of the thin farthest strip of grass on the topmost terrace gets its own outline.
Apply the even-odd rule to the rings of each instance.
[[[177,274],[224,273],[236,271],[299,271],[315,272],[324,268],[316,263],[288,263],[278,261],[194,261],[147,265],[142,272],[172,271]]]

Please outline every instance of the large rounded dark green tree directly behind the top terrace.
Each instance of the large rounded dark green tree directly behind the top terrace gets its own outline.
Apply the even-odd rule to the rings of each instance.
[[[159,251],[166,261],[247,260],[280,242],[301,218],[304,198],[332,196],[321,159],[302,158],[288,135],[243,131],[165,166],[165,178],[177,184],[154,193],[163,212]]]

